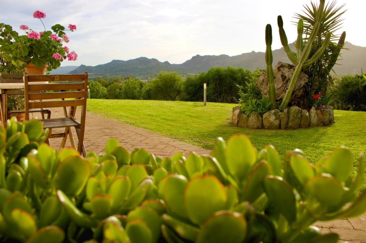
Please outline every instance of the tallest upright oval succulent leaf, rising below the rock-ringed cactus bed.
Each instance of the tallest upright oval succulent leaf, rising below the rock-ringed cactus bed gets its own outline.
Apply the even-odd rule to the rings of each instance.
[[[257,150],[247,136],[236,134],[227,142],[225,158],[230,173],[238,181],[243,181],[249,176],[250,168],[257,160]]]

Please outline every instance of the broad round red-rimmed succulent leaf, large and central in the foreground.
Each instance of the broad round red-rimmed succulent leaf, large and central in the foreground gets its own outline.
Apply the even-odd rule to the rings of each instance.
[[[203,224],[214,212],[223,210],[227,201],[226,190],[213,175],[194,177],[184,191],[184,205],[190,220]]]

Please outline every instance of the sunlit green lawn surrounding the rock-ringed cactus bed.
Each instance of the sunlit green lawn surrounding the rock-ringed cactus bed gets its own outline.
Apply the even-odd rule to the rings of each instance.
[[[366,112],[334,111],[335,124],[296,130],[252,130],[231,125],[235,104],[156,100],[87,101],[88,111],[145,128],[176,140],[213,149],[219,136],[227,140],[242,133],[261,150],[266,144],[276,147],[282,157],[286,151],[300,148],[312,163],[340,146],[349,147],[355,166],[359,154],[366,151]],[[365,187],[365,186],[364,186]]]

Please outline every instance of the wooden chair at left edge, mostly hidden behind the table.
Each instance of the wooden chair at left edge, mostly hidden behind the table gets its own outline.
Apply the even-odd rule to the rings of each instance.
[[[23,83],[24,74],[1,74],[0,73],[0,84],[15,84],[15,83]],[[24,110],[22,111],[9,111],[8,110],[8,96],[10,95],[23,95],[24,96],[24,91],[23,90],[8,90],[8,89],[1,89],[1,97],[3,99],[3,104],[4,104],[4,120],[8,120],[8,113],[10,113],[10,116],[12,114],[18,114],[18,113],[23,113],[25,112]],[[2,109],[3,107],[1,107]],[[49,119],[51,117],[51,111],[49,109],[44,109],[44,108],[40,108],[40,109],[30,109],[29,110],[30,113],[35,113],[35,112],[40,112],[42,119],[45,119],[45,114],[47,114],[47,119]]]

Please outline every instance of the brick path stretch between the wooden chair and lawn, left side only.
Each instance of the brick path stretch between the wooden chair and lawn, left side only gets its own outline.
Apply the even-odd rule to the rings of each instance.
[[[52,118],[64,117],[62,109],[51,109]],[[80,110],[78,110],[80,111]],[[80,121],[80,112],[76,112],[77,120]],[[73,130],[75,143],[77,137]],[[63,132],[63,130],[54,130],[55,132]],[[145,148],[149,153],[156,156],[172,156],[175,153],[183,153],[185,155],[195,151],[197,154],[209,154],[210,151],[192,144],[179,142],[175,139],[147,131],[143,128],[134,127],[123,124],[115,120],[104,118],[93,113],[87,112],[85,124],[84,144],[86,151],[94,151],[96,154],[104,152],[105,143],[109,138],[116,138],[120,145],[128,151],[134,148]],[[60,139],[51,139],[50,143],[53,147],[59,148]],[[68,139],[67,145],[70,146]]]

